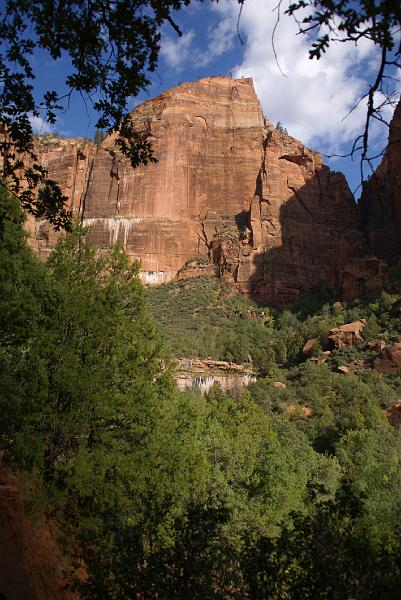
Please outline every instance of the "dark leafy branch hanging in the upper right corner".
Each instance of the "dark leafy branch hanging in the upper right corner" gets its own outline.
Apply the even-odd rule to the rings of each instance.
[[[283,6],[280,0],[277,9]],[[299,33],[310,36],[309,57],[319,60],[332,43],[354,43],[370,40],[379,49],[379,61],[373,79],[358,104],[366,101],[363,132],[354,140],[350,155],[361,153],[363,163],[371,166],[378,156],[369,155],[369,131],[373,121],[386,123],[384,108],[394,105],[399,97],[401,69],[401,4],[399,0],[297,0],[285,1],[285,13],[294,17]],[[278,12],[279,18],[279,12]],[[350,112],[358,106],[354,106]],[[361,173],[363,176],[363,172]]]

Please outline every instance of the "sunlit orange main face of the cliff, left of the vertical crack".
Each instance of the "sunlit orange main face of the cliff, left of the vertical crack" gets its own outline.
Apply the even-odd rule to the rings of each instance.
[[[255,189],[265,120],[251,80],[223,77],[181,84],[133,115],[158,162],[134,170],[106,139],[85,223],[97,245],[119,239],[140,258],[145,282],[164,282],[191,257],[210,255],[224,219],[238,230],[235,217],[249,211]]]

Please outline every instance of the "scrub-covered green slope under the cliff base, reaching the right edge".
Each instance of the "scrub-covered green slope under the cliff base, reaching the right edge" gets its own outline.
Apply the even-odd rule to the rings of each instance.
[[[365,344],[341,352],[334,349],[331,367],[341,362],[373,358],[368,342],[375,336],[391,343],[401,340],[399,313],[392,306],[401,296],[399,273],[392,293],[348,305],[325,291],[315,291],[293,311],[259,307],[229,283],[212,277],[173,281],[148,288],[152,313],[174,356],[199,356],[250,363],[261,374],[304,362],[305,342],[321,338],[332,327],[365,318]],[[370,366],[370,365],[369,365]]]

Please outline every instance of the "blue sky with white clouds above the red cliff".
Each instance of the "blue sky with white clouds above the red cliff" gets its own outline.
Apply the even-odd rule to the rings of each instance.
[[[365,104],[361,102],[348,117],[349,110],[367,91],[367,80],[378,61],[377,49],[362,40],[358,46],[333,44],[320,61],[308,58],[310,40],[296,35],[292,19],[282,15],[276,30],[278,67],[272,48],[276,22],[270,0],[246,0],[237,33],[238,3],[205,0],[193,3],[176,14],[182,37],[170,26],[162,31],[161,54],[152,84],[140,97],[130,99],[130,108],[154,97],[182,81],[210,75],[253,77],[263,110],[274,124],[277,121],[290,135],[323,154],[344,154],[350,142],[362,131]],[[54,63],[44,53],[34,56],[38,93],[63,89],[68,74],[66,59]],[[391,118],[391,109],[385,117]],[[69,110],[60,115],[55,130],[65,136],[93,137],[96,115],[79,96],[71,99]],[[36,121],[42,133],[46,124]],[[387,128],[375,124],[371,131],[376,150],[385,146]],[[351,189],[360,182],[359,161],[325,159],[335,170],[344,172]]]

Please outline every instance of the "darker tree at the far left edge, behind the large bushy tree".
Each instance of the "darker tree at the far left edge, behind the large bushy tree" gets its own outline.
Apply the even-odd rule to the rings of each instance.
[[[24,215],[17,198],[0,188],[0,445],[15,458],[24,448],[29,463],[39,441],[34,430],[46,399],[48,346],[56,298],[46,267],[26,243]],[[47,310],[44,308],[47,305]],[[23,461],[22,457],[21,461]]]

